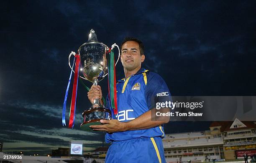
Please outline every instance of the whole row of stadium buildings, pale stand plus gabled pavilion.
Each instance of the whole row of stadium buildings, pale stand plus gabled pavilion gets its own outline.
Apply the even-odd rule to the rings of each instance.
[[[166,134],[163,138],[167,162],[232,160],[256,153],[256,123],[212,122],[209,131]]]

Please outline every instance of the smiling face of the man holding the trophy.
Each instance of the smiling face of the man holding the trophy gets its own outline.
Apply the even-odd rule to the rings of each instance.
[[[145,56],[141,55],[139,44],[135,41],[127,41],[121,47],[121,62],[126,70],[132,71],[141,67]]]

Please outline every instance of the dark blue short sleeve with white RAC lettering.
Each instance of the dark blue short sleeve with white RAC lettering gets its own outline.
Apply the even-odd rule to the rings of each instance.
[[[147,73],[145,98],[148,109],[156,108],[156,103],[172,101],[168,86],[159,74],[154,72]]]

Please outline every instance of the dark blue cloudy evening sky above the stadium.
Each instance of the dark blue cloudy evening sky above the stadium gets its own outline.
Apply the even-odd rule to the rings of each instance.
[[[255,96],[255,8],[255,1],[243,0],[1,2],[3,150],[46,154],[70,141],[82,141],[86,151],[101,145],[103,133],[79,130],[81,113],[90,107],[81,84],[75,127],[61,125],[67,58],[87,41],[92,28],[108,46],[125,36],[142,40],[143,67],[159,73],[172,95]],[[119,63],[118,79],[123,75]],[[100,82],[104,94],[106,81]],[[202,131],[208,125],[170,122],[165,131]]]

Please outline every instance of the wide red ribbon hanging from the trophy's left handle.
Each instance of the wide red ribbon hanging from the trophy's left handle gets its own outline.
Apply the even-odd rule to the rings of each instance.
[[[74,126],[74,118],[75,118],[75,110],[76,110],[76,99],[77,99],[77,81],[78,81],[78,72],[79,72],[79,64],[80,64],[80,56],[78,54],[75,55],[76,58],[76,67],[74,73],[74,83],[72,90],[72,101],[71,101],[71,109],[70,109],[70,117],[69,117],[69,128],[73,128]]]

